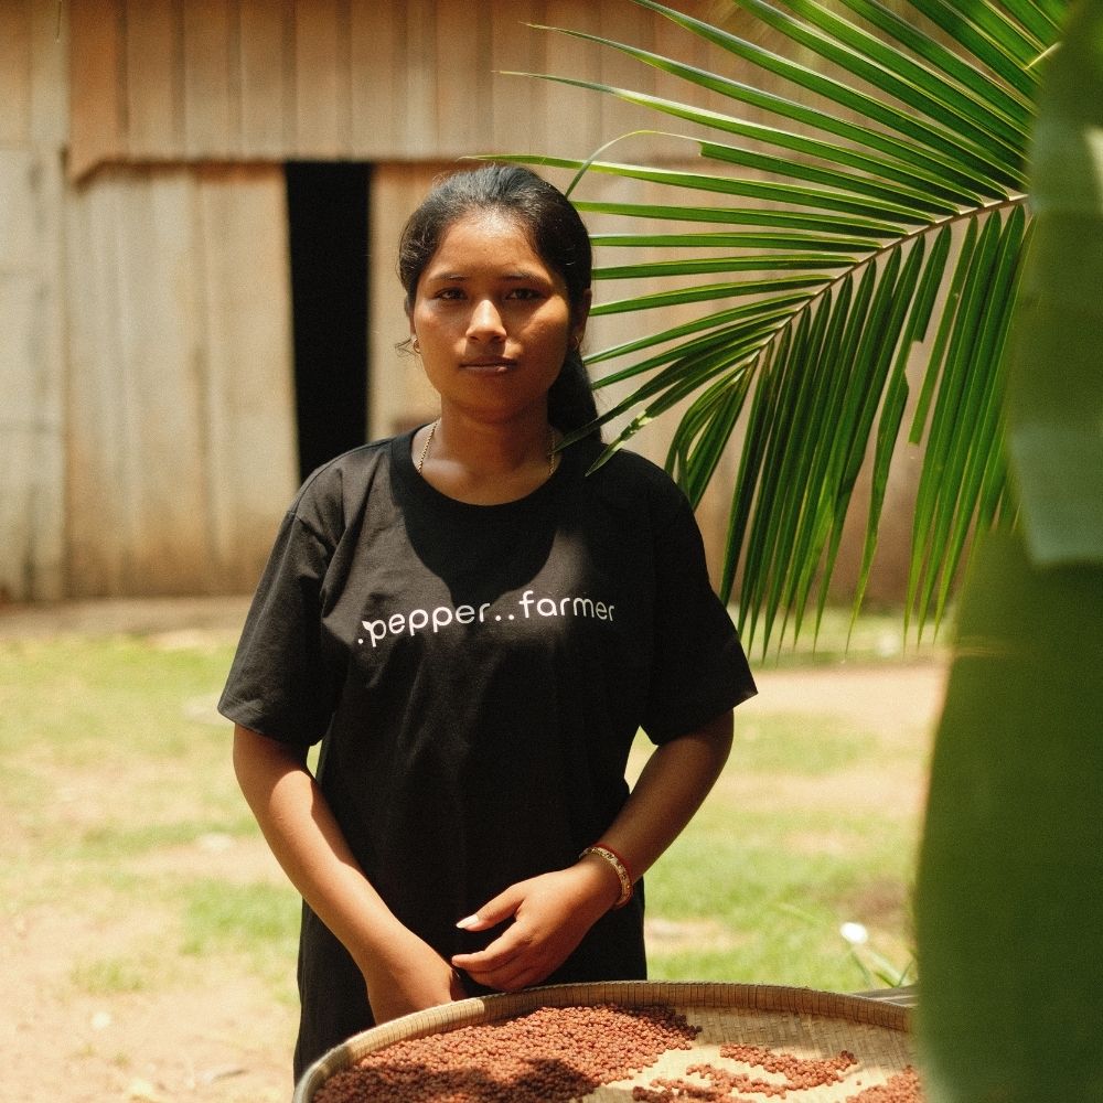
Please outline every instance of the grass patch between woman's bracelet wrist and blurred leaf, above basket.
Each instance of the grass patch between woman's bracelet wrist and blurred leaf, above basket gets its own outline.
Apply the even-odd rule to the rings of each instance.
[[[651,973],[667,979],[769,981],[832,990],[871,987],[839,935],[843,922],[877,932],[886,954],[907,964],[913,840],[876,817],[833,822],[852,845],[817,853],[825,833],[813,813],[729,815],[706,808],[647,878],[651,914],[675,924],[660,939]],[[690,945],[678,945],[686,924]]]

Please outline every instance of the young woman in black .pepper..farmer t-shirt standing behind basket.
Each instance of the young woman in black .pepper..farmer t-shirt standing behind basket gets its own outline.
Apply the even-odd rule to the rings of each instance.
[[[557,450],[596,417],[574,207],[521,168],[447,178],[399,276],[440,416],[307,480],[219,705],[304,901],[297,1075],[474,993],[642,978],[639,878],[754,693],[682,493],[627,452],[588,474],[597,433]]]

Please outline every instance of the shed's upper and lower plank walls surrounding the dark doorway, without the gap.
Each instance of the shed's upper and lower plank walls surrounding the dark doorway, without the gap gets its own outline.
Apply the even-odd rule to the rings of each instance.
[[[68,0],[65,15],[74,595],[255,580],[295,481],[285,161],[373,163],[370,435],[392,432],[435,406],[395,349],[394,276],[431,176],[481,151],[585,157],[645,119],[496,71],[662,90],[646,67],[526,22],[702,52],[627,0]]]

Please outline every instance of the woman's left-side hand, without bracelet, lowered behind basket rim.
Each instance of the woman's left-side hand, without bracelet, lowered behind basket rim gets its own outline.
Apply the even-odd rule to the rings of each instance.
[[[396,928],[383,952],[376,947],[361,972],[377,1024],[467,996],[456,970],[406,928]]]

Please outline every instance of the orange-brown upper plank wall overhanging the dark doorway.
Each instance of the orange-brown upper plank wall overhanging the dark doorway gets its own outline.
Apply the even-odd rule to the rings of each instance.
[[[686,60],[709,49],[628,0],[71,0],[71,12],[75,176],[119,160],[586,157],[640,126],[638,110],[502,71],[684,86],[526,23]],[[684,156],[684,143],[647,143]]]

